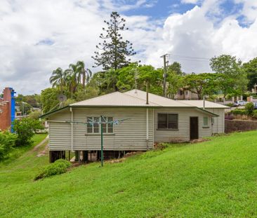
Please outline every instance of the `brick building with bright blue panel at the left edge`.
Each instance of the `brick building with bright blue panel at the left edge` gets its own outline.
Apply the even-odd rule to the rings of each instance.
[[[3,94],[3,98],[0,98],[0,131],[10,129],[15,119],[15,91],[4,88]]]

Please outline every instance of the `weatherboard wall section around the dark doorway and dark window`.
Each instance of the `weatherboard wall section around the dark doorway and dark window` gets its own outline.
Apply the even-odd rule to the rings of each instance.
[[[158,113],[178,114],[178,130],[158,130]],[[198,116],[199,138],[211,136],[211,116],[196,109],[154,109],[154,142],[190,140],[190,116]],[[204,116],[209,117],[209,128],[203,127]]]

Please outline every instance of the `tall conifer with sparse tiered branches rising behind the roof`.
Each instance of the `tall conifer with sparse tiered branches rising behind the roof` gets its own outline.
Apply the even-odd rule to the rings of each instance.
[[[104,70],[113,68],[114,70],[120,69],[129,64],[130,59],[126,57],[135,55],[132,48],[132,43],[128,40],[123,41],[120,32],[127,30],[125,27],[124,18],[121,18],[119,13],[112,12],[110,15],[110,21],[104,21],[107,24],[107,29],[103,28],[106,34],[100,34],[100,39],[103,39],[102,43],[99,43],[96,48],[100,51],[95,52],[95,66],[103,66]]]

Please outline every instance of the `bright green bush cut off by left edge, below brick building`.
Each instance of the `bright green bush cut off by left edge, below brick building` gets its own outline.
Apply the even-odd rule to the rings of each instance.
[[[10,132],[0,132],[0,161],[8,156],[15,146],[17,135]]]

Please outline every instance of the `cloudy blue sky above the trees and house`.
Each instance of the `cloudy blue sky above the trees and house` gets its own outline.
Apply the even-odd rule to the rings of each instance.
[[[162,67],[168,53],[169,64],[203,73],[215,55],[257,57],[257,0],[0,0],[0,90],[40,93],[54,69],[77,60],[92,69],[112,11],[141,64]]]

